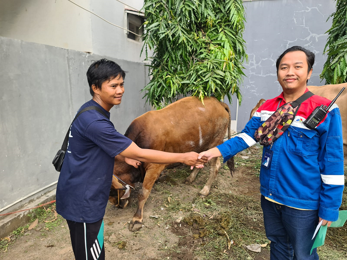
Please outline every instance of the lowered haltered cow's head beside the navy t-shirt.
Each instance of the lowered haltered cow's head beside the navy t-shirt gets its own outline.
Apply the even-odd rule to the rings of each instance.
[[[140,181],[140,171],[125,162],[115,161],[113,174],[115,176],[112,178],[108,200],[120,208],[125,208],[129,203],[132,187]]]

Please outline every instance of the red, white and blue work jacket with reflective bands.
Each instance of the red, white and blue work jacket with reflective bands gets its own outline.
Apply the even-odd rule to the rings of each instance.
[[[261,166],[260,191],[265,197],[283,205],[318,209],[321,218],[336,221],[344,187],[340,110],[334,104],[315,129],[303,124],[317,106],[330,102],[316,95],[304,101],[294,122],[282,136],[272,146],[264,147],[263,158],[268,148],[273,155],[268,168]],[[257,143],[255,131],[285,103],[283,92],[267,100],[254,113],[241,134],[218,145],[224,161]]]

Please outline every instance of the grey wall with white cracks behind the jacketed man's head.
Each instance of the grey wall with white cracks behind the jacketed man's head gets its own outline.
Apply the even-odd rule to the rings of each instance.
[[[245,65],[246,78],[241,88],[243,101],[239,107],[238,131],[248,122],[249,113],[261,98],[271,99],[282,92],[277,81],[276,59],[287,48],[300,45],[316,54],[316,62],[309,85],[320,82],[326,57],[323,49],[335,12],[333,0],[263,0],[244,2],[249,64]],[[235,110],[236,102],[232,104]]]

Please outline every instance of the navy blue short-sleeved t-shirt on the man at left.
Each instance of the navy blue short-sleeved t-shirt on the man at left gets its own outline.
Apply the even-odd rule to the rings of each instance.
[[[81,106],[98,106],[90,100]],[[132,141],[96,110],[83,112],[72,123],[57,185],[57,212],[65,219],[93,223],[105,214],[115,156]]]

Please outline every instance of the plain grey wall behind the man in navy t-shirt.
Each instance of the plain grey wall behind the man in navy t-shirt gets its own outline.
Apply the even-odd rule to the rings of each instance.
[[[92,98],[85,73],[101,58],[128,71],[122,104],[111,109],[111,120],[124,134],[150,110],[139,92],[148,82],[143,63],[0,36],[0,210],[58,180],[51,161],[73,116]]]

